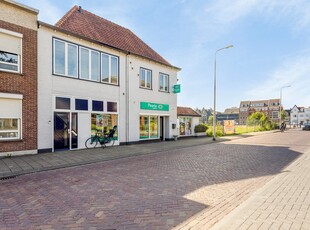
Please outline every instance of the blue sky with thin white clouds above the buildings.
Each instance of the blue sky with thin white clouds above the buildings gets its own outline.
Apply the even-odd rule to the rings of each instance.
[[[213,107],[214,52],[217,110],[241,100],[280,97],[285,109],[310,106],[308,0],[18,0],[54,24],[73,5],[132,30],[171,64],[181,67],[178,105]]]

